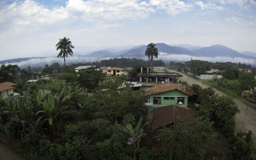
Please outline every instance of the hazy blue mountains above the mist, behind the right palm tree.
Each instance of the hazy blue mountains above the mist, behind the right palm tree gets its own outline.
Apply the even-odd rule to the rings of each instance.
[[[186,49],[187,46],[188,49]],[[145,58],[145,50],[146,45],[135,46],[127,50],[119,51],[119,52],[110,52],[107,50],[101,50],[92,52],[88,56],[90,57],[124,57],[124,58]],[[197,56],[197,57],[230,57],[230,58],[251,58],[256,60],[256,53],[254,52],[237,52],[228,48],[226,46],[222,46],[220,44],[213,45],[210,47],[200,47],[200,46],[191,46],[187,45],[179,45],[179,46],[170,46],[164,43],[157,43],[156,48],[158,48],[159,54],[178,54],[178,55],[189,55],[189,56]],[[194,48],[194,50],[192,49]]]

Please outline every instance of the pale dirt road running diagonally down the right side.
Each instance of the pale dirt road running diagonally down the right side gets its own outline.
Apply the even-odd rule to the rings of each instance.
[[[169,71],[170,72],[177,72],[177,71],[174,71],[174,70],[169,70]],[[177,72],[177,73],[179,73],[183,76],[183,77],[180,77],[180,80],[186,81],[188,83],[188,85],[198,84],[202,88],[210,87],[206,84],[203,84],[202,80],[196,80],[196,79],[192,78],[191,76],[188,76],[188,75],[186,75],[184,73],[181,73],[181,72]],[[217,90],[216,88],[213,88],[213,90],[219,96],[226,96],[226,94],[224,94],[220,90]],[[241,100],[238,100],[238,99],[234,98],[234,102],[236,102],[236,104],[238,105],[238,108],[241,111],[240,114],[236,115],[236,130],[238,132],[240,132],[242,130],[242,125],[243,125],[243,122],[244,122],[247,100],[244,99],[244,98],[242,98]],[[250,108],[250,106],[252,106],[252,105],[255,105],[255,104],[250,102],[248,110],[247,110],[245,123],[244,123],[244,130],[252,130],[254,141],[256,141],[256,110]]]

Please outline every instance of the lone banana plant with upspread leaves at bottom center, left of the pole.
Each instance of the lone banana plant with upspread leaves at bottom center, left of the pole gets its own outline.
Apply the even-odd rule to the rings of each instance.
[[[146,122],[143,126],[141,126],[142,123],[142,116],[140,117],[140,120],[135,128],[132,128],[130,124],[126,124],[126,127],[121,126],[120,124],[116,124],[116,126],[122,130],[125,134],[127,134],[130,138],[132,138],[133,147],[134,147],[134,160],[137,159],[137,152],[140,149],[140,145],[136,145],[137,141],[144,135],[143,128],[146,126],[148,122]]]

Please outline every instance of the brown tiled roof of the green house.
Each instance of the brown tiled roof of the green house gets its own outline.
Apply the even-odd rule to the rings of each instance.
[[[165,83],[165,84],[160,84],[157,86],[147,88],[145,91],[145,96],[149,96],[152,94],[158,94],[158,93],[162,93],[162,92],[168,92],[170,90],[179,90],[179,91],[186,93],[190,96],[196,94],[193,90],[191,90],[188,87],[180,87],[173,83]]]

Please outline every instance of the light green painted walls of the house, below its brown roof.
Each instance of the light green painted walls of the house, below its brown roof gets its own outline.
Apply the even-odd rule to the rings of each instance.
[[[158,94],[153,94],[150,96],[150,102],[154,102],[153,98],[154,97],[160,97],[160,104],[154,104],[153,106],[150,106],[150,108],[158,108],[162,106],[168,106],[168,105],[174,105],[176,102],[178,102],[178,97],[184,97],[184,104],[181,105],[180,107],[182,108],[187,108],[188,104],[188,94],[181,92],[179,90],[171,90],[168,92],[162,92]],[[164,97],[174,97],[174,100],[164,100]]]

